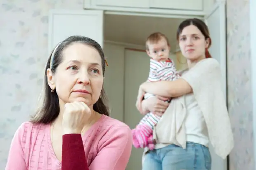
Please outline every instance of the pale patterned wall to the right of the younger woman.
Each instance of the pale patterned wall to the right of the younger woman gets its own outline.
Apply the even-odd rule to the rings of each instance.
[[[230,170],[254,170],[249,0],[227,0],[228,110],[235,136]]]

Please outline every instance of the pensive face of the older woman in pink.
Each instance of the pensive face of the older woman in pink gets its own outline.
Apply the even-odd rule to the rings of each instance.
[[[72,43],[63,51],[62,63],[48,84],[55,87],[59,103],[84,102],[92,106],[100,97],[103,86],[102,60],[94,47]]]

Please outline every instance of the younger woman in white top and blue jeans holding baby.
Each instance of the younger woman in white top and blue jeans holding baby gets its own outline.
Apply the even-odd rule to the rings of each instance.
[[[156,149],[146,149],[143,170],[211,170],[209,142],[222,158],[234,146],[220,66],[208,52],[211,38],[206,24],[199,19],[183,21],[177,40],[189,69],[177,80],[140,86],[140,112],[164,113],[154,128]],[[157,97],[142,102],[145,92],[173,99],[170,106]]]

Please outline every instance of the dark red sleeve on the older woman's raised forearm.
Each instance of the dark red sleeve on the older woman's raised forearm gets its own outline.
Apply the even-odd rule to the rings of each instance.
[[[81,134],[62,136],[62,170],[89,170]]]

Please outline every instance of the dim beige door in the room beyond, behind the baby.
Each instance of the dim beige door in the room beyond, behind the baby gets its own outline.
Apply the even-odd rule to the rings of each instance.
[[[149,57],[146,52],[125,50],[124,123],[133,129],[143,117],[135,107],[139,86],[149,75]],[[126,170],[142,169],[143,149],[133,147]]]

